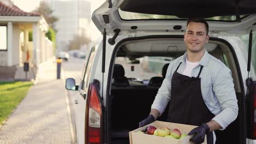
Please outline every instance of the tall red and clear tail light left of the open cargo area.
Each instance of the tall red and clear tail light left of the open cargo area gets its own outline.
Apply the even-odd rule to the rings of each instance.
[[[102,143],[102,107],[97,87],[90,83],[85,113],[85,143]]]

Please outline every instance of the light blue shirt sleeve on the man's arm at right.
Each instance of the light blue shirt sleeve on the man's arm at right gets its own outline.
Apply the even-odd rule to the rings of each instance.
[[[212,120],[216,121],[224,130],[235,121],[238,115],[238,105],[234,89],[231,71],[228,68],[221,68],[212,77],[212,88],[216,95],[222,111]]]

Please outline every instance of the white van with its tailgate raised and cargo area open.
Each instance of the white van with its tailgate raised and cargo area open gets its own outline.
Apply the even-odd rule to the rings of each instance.
[[[206,50],[231,70],[234,79],[238,117],[225,130],[216,131],[217,143],[256,143],[251,46],[247,52],[237,36],[252,35],[256,29],[256,1],[250,0],[103,3],[92,14],[103,38],[86,54],[79,85],[66,80],[67,89],[79,92],[74,95],[77,143],[129,143],[128,132],[149,115],[166,73],[162,68],[186,51],[188,17],[206,18],[210,26]],[[166,112],[158,118],[165,119]]]

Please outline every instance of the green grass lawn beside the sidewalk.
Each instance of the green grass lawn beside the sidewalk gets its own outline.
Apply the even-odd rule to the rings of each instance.
[[[26,97],[32,82],[0,82],[0,124]]]

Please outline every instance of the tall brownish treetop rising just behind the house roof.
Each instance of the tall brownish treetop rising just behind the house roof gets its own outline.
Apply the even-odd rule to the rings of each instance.
[[[54,28],[54,23],[59,20],[56,16],[53,16],[53,10],[50,8],[47,2],[40,1],[39,7],[36,9],[36,12],[44,16],[45,21],[50,27]]]

